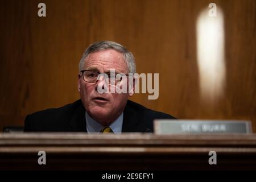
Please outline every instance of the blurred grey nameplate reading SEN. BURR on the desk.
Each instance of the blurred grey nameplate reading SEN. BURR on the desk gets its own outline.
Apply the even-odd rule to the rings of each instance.
[[[251,133],[250,121],[156,119],[155,134]]]

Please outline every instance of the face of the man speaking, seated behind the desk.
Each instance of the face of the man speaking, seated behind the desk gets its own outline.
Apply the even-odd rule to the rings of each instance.
[[[123,55],[113,49],[90,53],[85,60],[83,69],[97,71],[100,73],[110,72],[115,69],[117,73],[129,73],[129,69]],[[103,85],[104,79],[97,82],[85,82],[79,73],[78,89],[82,104],[93,119],[102,125],[109,125],[122,113],[129,93],[98,93],[98,84]],[[108,84],[107,84],[108,85]],[[109,85],[113,86],[113,85]]]

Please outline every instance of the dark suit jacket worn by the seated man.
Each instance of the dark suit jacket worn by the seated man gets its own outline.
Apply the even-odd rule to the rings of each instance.
[[[123,110],[122,132],[153,132],[153,120],[162,118],[175,119],[128,100]],[[27,115],[24,131],[86,132],[84,106],[77,100],[60,108]]]

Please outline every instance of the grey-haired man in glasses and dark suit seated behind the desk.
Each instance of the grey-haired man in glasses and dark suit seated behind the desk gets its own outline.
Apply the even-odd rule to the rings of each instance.
[[[113,69],[114,75],[110,74]],[[154,119],[174,117],[128,100],[134,93],[134,82],[122,78],[130,77],[135,70],[133,55],[120,44],[103,41],[90,45],[79,63],[81,99],[27,115],[24,131],[152,132]],[[127,92],[109,92],[123,86],[127,86]]]

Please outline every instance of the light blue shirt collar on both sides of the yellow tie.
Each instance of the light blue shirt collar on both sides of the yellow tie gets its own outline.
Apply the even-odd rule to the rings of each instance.
[[[101,129],[104,127],[101,123],[97,122],[85,111],[86,129],[88,133],[100,133]],[[119,115],[114,122],[109,126],[114,134],[121,134],[123,126],[123,112]]]

